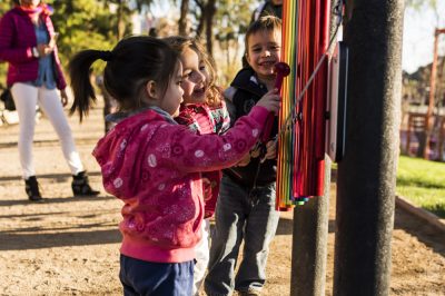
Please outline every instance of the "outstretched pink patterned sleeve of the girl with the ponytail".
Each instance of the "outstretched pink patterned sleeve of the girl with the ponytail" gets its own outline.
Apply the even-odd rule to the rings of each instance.
[[[268,116],[254,107],[225,135],[196,135],[186,127],[165,125],[154,136],[149,164],[184,172],[211,171],[234,166],[256,144]]]

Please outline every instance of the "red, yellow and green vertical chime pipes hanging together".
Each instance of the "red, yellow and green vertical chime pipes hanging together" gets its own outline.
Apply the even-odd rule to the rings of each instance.
[[[290,66],[285,79],[279,115],[277,208],[304,204],[323,195],[325,155],[325,109],[327,96],[327,59],[301,97],[329,38],[330,1],[295,1],[283,3],[281,60]],[[290,120],[289,116],[297,120]]]

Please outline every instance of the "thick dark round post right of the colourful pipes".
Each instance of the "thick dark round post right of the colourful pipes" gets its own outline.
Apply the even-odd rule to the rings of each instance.
[[[388,295],[404,0],[348,0],[345,157],[338,164],[334,295]]]

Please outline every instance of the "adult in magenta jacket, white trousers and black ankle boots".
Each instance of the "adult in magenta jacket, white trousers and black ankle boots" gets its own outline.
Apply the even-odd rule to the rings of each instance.
[[[0,20],[0,60],[7,61],[7,85],[19,115],[19,154],[29,200],[42,197],[32,161],[36,106],[46,114],[60,139],[71,170],[75,196],[96,196],[76,150],[63,112],[68,103],[66,80],[57,53],[51,10],[40,0],[20,0]],[[60,90],[60,95],[58,92]]]

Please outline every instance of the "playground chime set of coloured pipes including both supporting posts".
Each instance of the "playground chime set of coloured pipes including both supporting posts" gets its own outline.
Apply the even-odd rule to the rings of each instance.
[[[339,103],[337,111],[347,110],[347,118],[354,122],[347,122],[344,135],[336,135],[347,137],[347,141],[336,139],[347,142],[347,152],[343,156],[344,147],[335,146],[342,161],[337,170],[333,293],[387,295],[398,156],[394,138],[398,135],[396,93],[402,81],[403,1],[339,0],[335,8],[340,17],[344,8],[346,11],[343,36],[350,59],[350,65],[345,65],[345,51],[338,50],[343,69],[349,73],[349,86],[346,88],[338,76],[346,78],[347,73],[336,71],[338,83],[345,83],[345,92],[337,91],[337,96],[344,98],[348,91],[347,107],[338,109]],[[323,193],[324,127],[334,111],[327,111],[327,101],[332,100],[326,93],[335,89],[334,81],[328,87],[326,52],[334,43],[328,42],[328,36],[335,36],[330,31],[337,31],[342,21],[329,30],[328,0],[285,0],[283,11],[281,60],[289,63],[291,72],[283,86],[277,204],[287,208]],[[290,295],[325,293],[326,201],[325,194],[304,207],[294,207]]]

